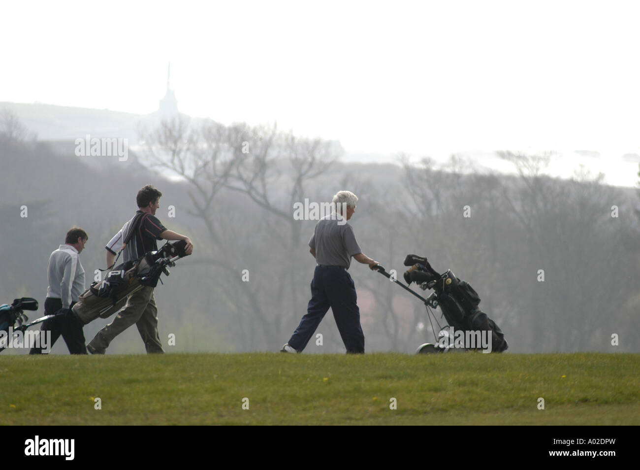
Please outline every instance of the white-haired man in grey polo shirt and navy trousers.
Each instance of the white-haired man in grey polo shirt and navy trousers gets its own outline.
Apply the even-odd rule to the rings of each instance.
[[[317,263],[311,282],[312,297],[307,314],[281,352],[302,352],[331,307],[347,353],[364,353],[356,288],[347,270],[352,256],[359,263],[369,264],[371,269],[378,263],[360,250],[353,229],[346,222],[353,216],[357,201],[358,197],[351,191],[339,191],[333,196],[335,213],[324,216],[316,224],[309,240],[309,252]]]

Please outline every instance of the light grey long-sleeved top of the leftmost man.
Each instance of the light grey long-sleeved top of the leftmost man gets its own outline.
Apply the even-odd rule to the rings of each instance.
[[[84,292],[84,268],[80,255],[71,245],[60,245],[49,257],[47,264],[47,297],[62,300],[62,308],[68,309]]]

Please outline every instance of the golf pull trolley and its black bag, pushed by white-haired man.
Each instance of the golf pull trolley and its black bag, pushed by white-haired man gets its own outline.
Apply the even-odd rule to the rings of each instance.
[[[404,272],[406,284],[397,280],[380,264],[376,264],[374,269],[419,298],[426,307],[435,343],[420,344],[416,350],[417,354],[479,349],[483,349],[483,352],[503,352],[508,348],[502,330],[478,308],[480,297],[467,282],[456,277],[451,270],[438,273],[431,268],[426,257],[407,255],[404,266],[410,266]],[[422,290],[433,289],[433,293],[427,298],[419,295],[409,288],[412,282],[418,284]],[[442,312],[442,318],[446,321],[444,327],[440,325],[434,312],[438,307]],[[434,323],[438,327],[437,336]],[[456,331],[455,341],[452,337],[454,330]],[[463,341],[459,342],[460,333]]]

